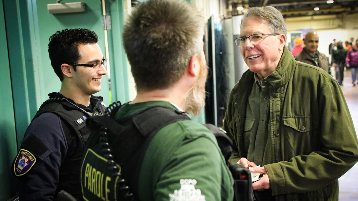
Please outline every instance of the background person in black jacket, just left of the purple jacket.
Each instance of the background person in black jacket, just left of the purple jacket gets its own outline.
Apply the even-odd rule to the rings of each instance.
[[[332,50],[332,66],[335,70],[335,77],[339,85],[343,86],[344,65],[347,50],[343,48],[342,41],[338,41],[337,46]]]

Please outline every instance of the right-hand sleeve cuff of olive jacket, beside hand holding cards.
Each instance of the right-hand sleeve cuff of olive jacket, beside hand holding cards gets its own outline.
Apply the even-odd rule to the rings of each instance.
[[[279,163],[265,165],[267,176],[269,176],[272,195],[286,193],[286,180],[284,172]]]

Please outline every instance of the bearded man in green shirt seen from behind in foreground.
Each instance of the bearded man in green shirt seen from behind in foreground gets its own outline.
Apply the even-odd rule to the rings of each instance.
[[[148,118],[139,119],[153,108],[155,111],[165,107],[173,114],[186,116],[182,112],[185,111],[197,116],[205,104],[207,78],[203,34],[202,14],[185,1],[149,0],[138,5],[123,33],[137,95],[111,114],[114,120],[126,126],[124,129],[135,124],[142,133],[156,129],[151,123],[153,119],[165,121],[167,118],[166,113],[151,112]],[[143,120],[146,123],[141,123]],[[127,133],[132,134],[130,139],[116,141]],[[91,134],[81,171],[84,198],[101,200],[103,195],[113,200],[120,195],[114,189],[115,181],[117,186],[124,181],[111,177],[111,172],[118,173],[120,168],[136,200],[233,200],[233,178],[211,131],[187,119],[167,124],[154,134],[144,150],[141,165],[137,166],[129,164],[133,161],[137,164],[141,157],[129,155],[125,161],[121,160],[125,153],[116,151],[135,141],[134,131]],[[100,137],[102,135],[108,139]],[[111,152],[107,152],[107,147]],[[140,145],[142,147],[145,143]],[[107,165],[114,163],[120,167],[114,165],[108,169]],[[132,172],[136,167],[139,171]],[[103,189],[106,186],[106,191],[101,191],[103,194],[96,191],[91,182],[91,175],[97,172],[103,174],[101,186]],[[123,187],[120,192],[127,189]]]

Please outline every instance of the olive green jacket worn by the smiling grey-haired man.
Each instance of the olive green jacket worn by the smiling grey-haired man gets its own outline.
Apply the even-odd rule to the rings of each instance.
[[[339,84],[324,70],[297,62],[287,49],[265,79],[274,150],[265,155],[275,162],[264,165],[276,201],[338,200],[337,179],[358,161],[357,135]],[[229,98],[223,128],[234,142],[231,162],[247,157],[242,136],[253,83],[247,70]]]

